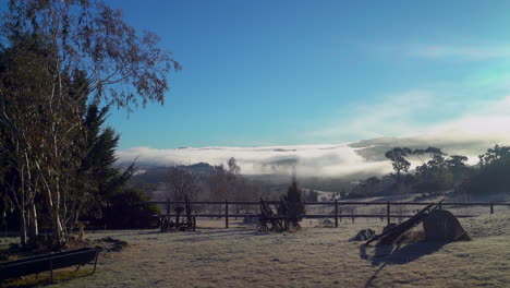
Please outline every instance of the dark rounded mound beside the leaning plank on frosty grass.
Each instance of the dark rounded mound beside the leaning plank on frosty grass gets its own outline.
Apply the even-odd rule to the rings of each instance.
[[[425,217],[423,229],[429,242],[452,242],[470,239],[456,216],[444,209],[433,211]]]

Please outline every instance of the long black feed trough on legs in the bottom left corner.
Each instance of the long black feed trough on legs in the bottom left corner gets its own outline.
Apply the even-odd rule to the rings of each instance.
[[[80,268],[81,265],[88,263],[94,264],[94,269],[90,273],[93,274],[96,271],[98,254],[99,249],[97,248],[83,248],[0,263],[0,280],[19,278],[47,271],[51,273],[52,280],[53,269],[75,265]]]

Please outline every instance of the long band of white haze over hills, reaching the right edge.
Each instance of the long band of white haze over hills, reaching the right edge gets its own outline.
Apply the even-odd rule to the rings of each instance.
[[[470,164],[476,164],[477,155],[495,144],[506,144],[500,136],[482,137],[471,135],[458,137],[379,137],[348,144],[331,145],[294,145],[262,147],[184,147],[175,149],[157,149],[134,147],[119,151],[118,164],[124,165],[137,158],[138,173],[149,168],[170,165],[191,165],[206,163],[219,165],[234,157],[243,175],[265,176],[279,179],[288,178],[293,167],[300,177],[324,178],[363,178],[391,172],[391,164],[385,158],[385,152],[396,146],[412,149],[435,146],[449,155],[464,155]],[[417,164],[417,163],[416,163]],[[414,167],[414,163],[413,166]],[[196,166],[197,169],[207,167]],[[155,170],[155,169],[153,169]],[[156,169],[157,170],[157,169]]]

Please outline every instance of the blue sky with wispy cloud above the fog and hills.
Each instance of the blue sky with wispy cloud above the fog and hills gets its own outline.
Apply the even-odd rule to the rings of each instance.
[[[510,95],[509,1],[109,3],[184,68],[165,106],[112,110],[120,149],[470,130]]]

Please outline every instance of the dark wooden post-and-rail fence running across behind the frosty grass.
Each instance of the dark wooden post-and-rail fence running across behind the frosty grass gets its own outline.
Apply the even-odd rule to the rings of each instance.
[[[278,204],[279,201],[265,201],[268,204]],[[175,216],[172,214],[172,206],[177,205],[184,205],[184,201],[149,201],[145,203],[150,203],[150,204],[158,204],[158,205],[163,205],[166,207],[166,214],[161,216]],[[192,208],[196,206],[201,206],[202,209],[203,206],[219,206],[216,209],[212,208],[212,211],[220,211],[221,213],[208,213],[208,214],[194,214],[195,217],[207,217],[207,218],[224,218],[224,227],[229,228],[229,218],[238,218],[238,217],[258,217],[257,213],[235,213],[231,214],[229,213],[229,206],[233,205],[239,205],[239,206],[254,206],[255,209],[253,211],[258,211],[258,204],[259,202],[255,201],[194,201],[190,202]],[[392,206],[421,206],[424,207],[426,205],[430,204],[430,202],[343,202],[343,201],[330,201],[330,202],[306,202],[305,206],[321,206],[321,207],[331,207],[331,213],[330,214],[305,214],[302,215],[303,218],[333,218],[335,219],[335,227],[338,227],[339,219],[341,218],[386,218],[387,224],[389,225],[391,221],[391,218],[410,218],[413,215],[402,215],[402,214],[391,214],[391,207]],[[341,214],[339,213],[342,207],[344,206],[381,206],[386,207],[386,213],[385,214],[355,214],[353,213],[353,209],[351,209],[351,214]],[[447,207],[470,207],[470,206],[483,206],[486,207],[487,213],[494,214],[495,207],[496,206],[506,206],[510,207],[510,203],[508,202],[444,202],[440,204],[439,208],[447,208]],[[210,209],[209,209],[210,212]],[[231,211],[230,211],[231,212]],[[456,215],[457,217],[473,217],[476,215]]]

